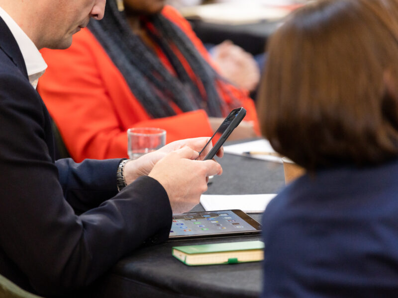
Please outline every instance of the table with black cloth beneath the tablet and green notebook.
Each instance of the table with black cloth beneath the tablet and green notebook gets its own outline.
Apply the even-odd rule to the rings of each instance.
[[[282,164],[225,154],[219,159],[223,174],[215,176],[206,194],[277,193],[284,185]],[[198,205],[193,211],[203,211]],[[261,221],[261,214],[251,214]],[[171,254],[172,247],[259,240],[260,236],[173,240],[138,249],[120,260],[90,289],[96,298],[198,298],[258,297],[261,293],[261,262],[190,267]]]

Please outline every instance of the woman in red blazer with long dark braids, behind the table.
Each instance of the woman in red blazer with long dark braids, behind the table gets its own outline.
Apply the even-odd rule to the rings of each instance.
[[[38,91],[77,161],[125,156],[130,127],[165,129],[168,143],[210,136],[239,106],[247,116],[234,137],[258,135],[247,92],[217,73],[164,0],[109,0],[103,20],[91,21],[69,49],[42,55],[49,67]]]

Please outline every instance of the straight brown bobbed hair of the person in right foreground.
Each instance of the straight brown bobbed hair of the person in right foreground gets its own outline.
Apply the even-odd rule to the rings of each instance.
[[[321,0],[272,36],[259,91],[263,135],[308,170],[398,155],[398,3]]]

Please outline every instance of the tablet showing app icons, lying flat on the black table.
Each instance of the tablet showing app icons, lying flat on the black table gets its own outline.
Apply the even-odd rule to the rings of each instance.
[[[188,212],[173,215],[169,239],[251,235],[261,224],[242,210]]]

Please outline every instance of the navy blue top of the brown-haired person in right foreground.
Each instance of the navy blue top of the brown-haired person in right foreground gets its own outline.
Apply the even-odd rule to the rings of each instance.
[[[398,160],[300,177],[263,238],[262,297],[398,297]]]

